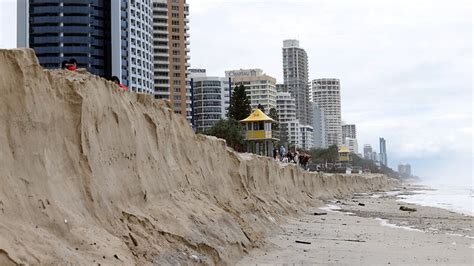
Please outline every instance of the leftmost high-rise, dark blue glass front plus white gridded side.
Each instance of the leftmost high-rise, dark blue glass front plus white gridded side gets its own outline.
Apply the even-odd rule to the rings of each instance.
[[[17,0],[18,47],[45,68],[75,58],[80,68],[117,76],[153,94],[152,0]]]

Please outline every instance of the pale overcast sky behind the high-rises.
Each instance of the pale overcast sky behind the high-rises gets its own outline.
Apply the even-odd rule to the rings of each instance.
[[[15,0],[0,0],[12,48]],[[341,79],[342,116],[359,148],[387,140],[389,165],[428,178],[472,177],[469,0],[188,0],[191,67],[261,68],[282,82],[282,41],[309,56],[310,79]]]

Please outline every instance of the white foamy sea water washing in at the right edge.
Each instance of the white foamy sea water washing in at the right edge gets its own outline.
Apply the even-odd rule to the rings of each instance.
[[[474,188],[472,182],[449,184],[446,182],[421,182],[433,190],[419,190],[416,195],[399,196],[400,201],[422,206],[443,208],[474,216]]]

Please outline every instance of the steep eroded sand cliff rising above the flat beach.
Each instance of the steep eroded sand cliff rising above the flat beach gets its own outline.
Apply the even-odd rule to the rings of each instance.
[[[316,198],[319,176],[194,135],[164,101],[0,50],[0,264],[233,263]]]

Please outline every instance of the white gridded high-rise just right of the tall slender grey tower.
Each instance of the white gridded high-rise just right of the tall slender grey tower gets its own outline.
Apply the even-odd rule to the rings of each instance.
[[[333,78],[313,80],[313,101],[324,110],[326,146],[342,146],[340,81]]]

